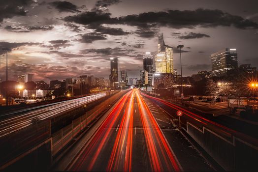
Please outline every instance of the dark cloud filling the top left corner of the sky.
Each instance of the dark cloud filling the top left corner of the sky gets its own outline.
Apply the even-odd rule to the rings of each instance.
[[[26,16],[27,7],[36,3],[34,0],[1,0],[0,1],[0,22],[14,16]]]

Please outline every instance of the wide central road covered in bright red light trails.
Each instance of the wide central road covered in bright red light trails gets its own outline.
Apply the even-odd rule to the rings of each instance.
[[[155,105],[139,90],[129,91],[66,170],[213,171],[170,119],[162,112],[153,115],[150,106]]]

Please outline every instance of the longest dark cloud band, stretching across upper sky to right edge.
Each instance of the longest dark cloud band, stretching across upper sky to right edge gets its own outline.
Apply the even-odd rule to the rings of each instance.
[[[221,10],[196,9],[196,10],[167,10],[160,12],[145,12],[111,18],[110,13],[98,13],[96,11],[84,12],[74,16],[65,17],[65,21],[83,25],[90,24],[126,24],[137,26],[141,29],[154,27],[194,28],[234,26],[239,29],[258,29],[258,24],[244,19],[241,16],[231,15]]]

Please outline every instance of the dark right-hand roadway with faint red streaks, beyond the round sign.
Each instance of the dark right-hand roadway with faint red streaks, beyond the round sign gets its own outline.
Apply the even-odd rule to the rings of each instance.
[[[144,93],[141,94],[175,118],[178,118],[178,116],[176,115],[177,111],[182,111],[184,115],[181,117],[181,122],[182,125],[185,126],[185,128],[187,122],[192,122],[200,128],[202,126],[205,126],[212,131],[220,134],[221,136],[225,136],[227,138],[234,135],[246,141],[250,141],[250,143],[254,143],[255,145],[258,143],[258,135],[256,132],[257,126],[255,125],[247,124],[246,122],[231,119],[229,117],[214,117],[211,115],[194,113],[190,110],[177,106],[176,104],[170,103],[168,101],[162,100],[160,98],[152,97]]]

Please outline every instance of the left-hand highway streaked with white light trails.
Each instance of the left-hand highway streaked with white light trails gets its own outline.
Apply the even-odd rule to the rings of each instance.
[[[53,103],[49,105],[42,105],[40,109],[38,107],[33,110],[22,110],[19,113],[25,112],[21,115],[15,117],[10,117],[8,119],[3,119],[0,121],[0,137],[6,136],[12,132],[20,130],[26,126],[29,126],[33,123],[33,120],[43,120],[55,115],[59,115],[68,110],[72,110],[78,107],[81,107],[85,104],[93,102],[101,97],[106,96],[106,92],[97,93],[95,95],[90,95],[86,97],[80,97],[76,99],[66,100],[63,102]],[[11,115],[4,114],[4,115]]]

